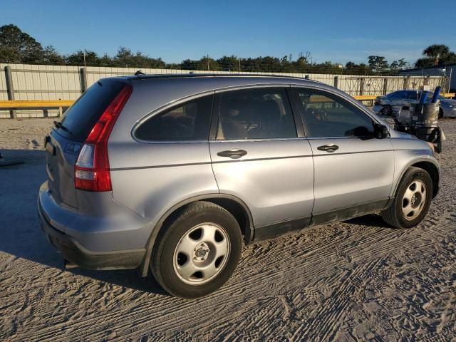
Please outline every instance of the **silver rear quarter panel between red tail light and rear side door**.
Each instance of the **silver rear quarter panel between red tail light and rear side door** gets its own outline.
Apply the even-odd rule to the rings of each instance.
[[[219,192],[207,141],[110,142],[109,148],[114,199],[152,223],[187,197]]]

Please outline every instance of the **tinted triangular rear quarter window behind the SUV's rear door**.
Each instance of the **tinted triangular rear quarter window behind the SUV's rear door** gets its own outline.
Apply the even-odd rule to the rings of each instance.
[[[212,113],[212,95],[152,116],[135,131],[140,140],[207,140]]]

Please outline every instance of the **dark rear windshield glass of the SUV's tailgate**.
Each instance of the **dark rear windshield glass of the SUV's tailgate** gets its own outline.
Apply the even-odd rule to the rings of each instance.
[[[83,142],[124,86],[125,83],[118,81],[103,80],[94,83],[63,115],[61,123],[68,130],[54,129],[69,140]]]

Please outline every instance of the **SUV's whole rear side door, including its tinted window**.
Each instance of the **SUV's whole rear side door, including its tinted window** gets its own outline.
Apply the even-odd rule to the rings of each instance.
[[[314,164],[286,88],[217,93],[214,119],[217,134],[209,147],[219,191],[247,203],[255,234],[261,232],[258,227],[272,224],[276,224],[276,234],[301,228],[281,225],[284,222],[309,224]]]

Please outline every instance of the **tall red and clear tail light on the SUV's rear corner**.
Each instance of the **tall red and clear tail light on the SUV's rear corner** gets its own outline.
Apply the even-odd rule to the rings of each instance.
[[[115,120],[130,98],[133,87],[126,85],[108,105],[90,131],[74,167],[76,189],[86,191],[111,191],[108,160],[108,139]]]

